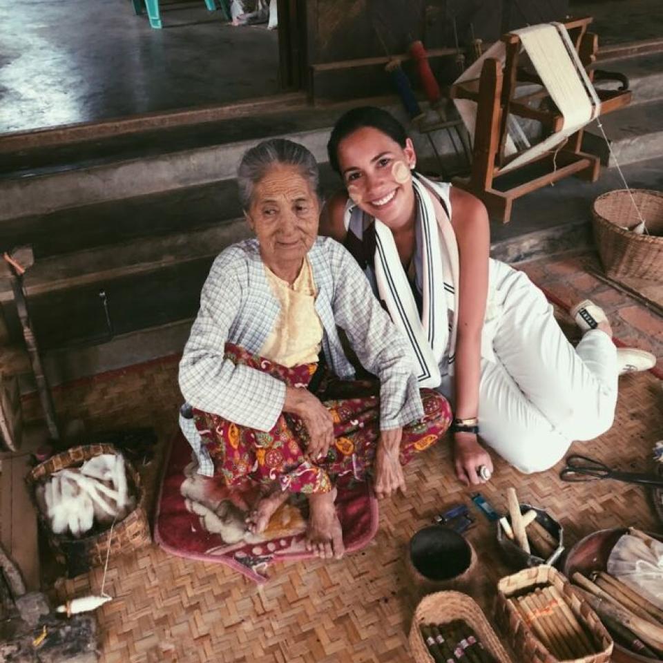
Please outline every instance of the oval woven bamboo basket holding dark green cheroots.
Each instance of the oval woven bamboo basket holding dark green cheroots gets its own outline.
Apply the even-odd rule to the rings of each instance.
[[[416,606],[410,628],[410,650],[417,663],[435,663],[423,641],[419,626],[448,624],[457,619],[463,620],[474,629],[486,651],[490,652],[498,663],[512,663],[481,608],[467,594],[453,591],[429,594]]]

